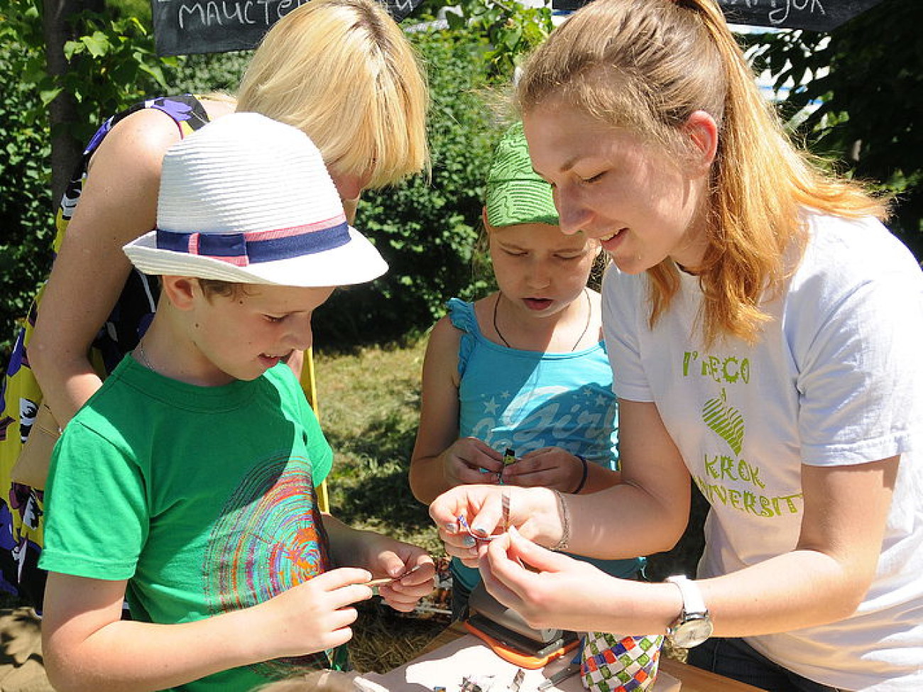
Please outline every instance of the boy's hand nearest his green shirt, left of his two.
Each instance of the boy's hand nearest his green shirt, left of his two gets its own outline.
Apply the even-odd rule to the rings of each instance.
[[[367,601],[371,575],[365,569],[331,569],[255,606],[269,617],[270,655],[302,656],[345,644],[357,613],[352,605]]]

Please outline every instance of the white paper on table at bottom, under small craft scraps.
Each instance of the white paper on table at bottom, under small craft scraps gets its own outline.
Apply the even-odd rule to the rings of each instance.
[[[539,683],[564,668],[573,656],[574,651],[569,651],[556,661],[548,663],[545,668],[522,669],[525,677],[520,692],[535,692]],[[356,678],[356,684],[357,689],[363,689],[362,682],[367,680],[387,692],[431,692],[438,686],[445,687],[447,692],[458,692],[462,686],[462,678],[493,675],[492,685],[485,686],[485,692],[506,692],[513,676],[519,670],[518,665],[501,659],[481,639],[465,635],[389,673],[366,673]],[[375,686],[369,686],[369,689],[378,692]],[[653,692],[679,692],[679,689],[679,681],[665,672],[657,675],[657,681],[653,686]],[[547,687],[545,692],[585,691],[578,673],[561,681],[557,686]]]

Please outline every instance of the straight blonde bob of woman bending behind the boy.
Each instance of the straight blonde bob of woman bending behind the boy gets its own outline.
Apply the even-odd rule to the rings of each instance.
[[[426,169],[426,78],[375,0],[311,0],[273,25],[246,69],[237,110],[304,131],[337,173],[369,186]]]

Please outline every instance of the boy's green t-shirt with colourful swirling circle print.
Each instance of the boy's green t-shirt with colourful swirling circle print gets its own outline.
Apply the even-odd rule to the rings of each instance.
[[[314,486],[332,452],[286,365],[196,387],[127,357],[55,447],[41,567],[128,579],[132,616],[194,621],[262,603],[330,568]],[[248,690],[324,653],[211,675]]]

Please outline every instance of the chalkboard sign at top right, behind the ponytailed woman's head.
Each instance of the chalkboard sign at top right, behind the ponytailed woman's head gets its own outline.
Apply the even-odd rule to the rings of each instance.
[[[919,0],[917,0],[918,2]],[[575,10],[588,0],[552,0],[556,10]],[[881,0],[718,0],[734,24],[776,29],[831,31]]]

